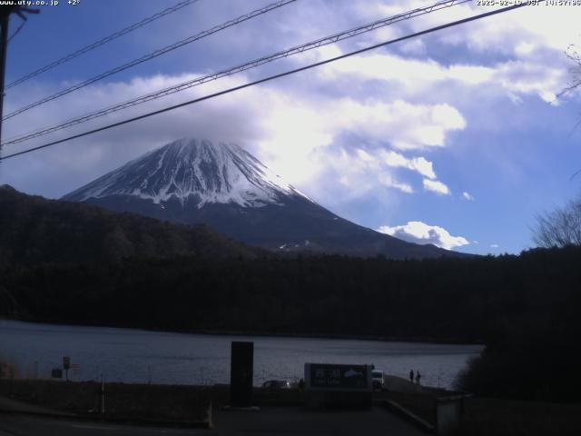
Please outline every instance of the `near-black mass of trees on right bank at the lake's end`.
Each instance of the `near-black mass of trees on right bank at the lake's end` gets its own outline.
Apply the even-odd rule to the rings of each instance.
[[[516,280],[497,290],[512,294],[512,302],[507,300],[487,321],[486,348],[460,374],[458,389],[483,396],[579,402],[579,253],[581,247],[569,247],[521,256],[527,264],[523,272],[538,282]]]

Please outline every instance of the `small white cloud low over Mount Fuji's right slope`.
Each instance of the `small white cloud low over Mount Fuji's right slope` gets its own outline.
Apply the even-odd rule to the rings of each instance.
[[[446,250],[469,244],[468,240],[462,236],[452,236],[443,227],[428,225],[421,221],[410,221],[407,224],[393,227],[382,225],[378,232],[390,234],[409,243],[433,243]]]

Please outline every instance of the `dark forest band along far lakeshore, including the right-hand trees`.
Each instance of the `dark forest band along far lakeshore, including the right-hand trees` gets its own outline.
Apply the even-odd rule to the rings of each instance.
[[[579,247],[425,261],[45,263],[0,271],[0,302],[4,316],[31,321],[484,341],[461,387],[564,400],[581,387],[580,266]]]

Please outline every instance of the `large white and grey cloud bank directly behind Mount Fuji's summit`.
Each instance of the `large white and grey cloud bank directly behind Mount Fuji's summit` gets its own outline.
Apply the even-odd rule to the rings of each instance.
[[[37,125],[54,124],[61,118],[89,112],[94,106],[114,104],[134,95],[145,94],[151,89],[182,83],[194,76],[155,75],[136,77],[128,83],[95,85],[85,88],[82,93],[67,95],[63,101],[46,104],[46,108],[31,111],[31,117],[36,120]],[[123,120],[133,114],[180,103],[244,83],[246,80],[248,78],[243,74],[224,78],[220,82],[205,84],[123,113],[113,114],[106,118],[106,122]],[[18,105],[14,100],[12,104]],[[52,110],[56,107],[58,111]],[[422,134],[415,132],[413,117],[437,118],[434,113],[439,110],[441,109],[438,105],[415,105],[403,101],[391,104],[358,102],[349,98],[321,99],[317,96],[305,96],[297,102],[293,94],[284,90],[255,87],[155,116],[146,122],[129,124],[74,143],[63,144],[51,151],[17,158],[11,161],[11,165],[4,165],[3,182],[13,183],[27,192],[58,196],[154,147],[176,137],[192,135],[250,147],[251,153],[257,154],[291,183],[310,187],[306,189],[310,193],[316,193],[316,186],[313,188],[315,181],[324,175],[343,177],[343,181],[349,180],[349,183],[342,183],[338,187],[353,193],[369,192],[378,182],[383,186],[411,193],[413,189],[409,183],[403,183],[389,173],[389,165],[354,163],[350,159],[350,148],[347,148],[348,153],[343,159],[335,162],[338,152],[331,149],[330,144],[341,134],[351,133],[358,134],[369,143],[385,144],[385,138],[393,138],[398,144],[421,144]],[[11,120],[12,123],[6,125],[6,137],[29,130],[26,122],[29,119],[31,118],[19,117]],[[438,131],[438,135],[444,136],[448,127],[446,123],[437,127],[437,122],[431,127]],[[47,138],[56,139],[102,124],[103,120],[96,120],[94,123],[39,138],[26,146],[10,148],[17,151],[31,145],[43,144]],[[65,150],[66,153],[57,149]],[[373,160],[379,162],[379,158],[375,156]],[[409,167],[430,175],[430,163],[423,158],[409,160]],[[34,178],[30,177],[33,169]],[[47,180],[51,181],[50,190],[47,190]]]

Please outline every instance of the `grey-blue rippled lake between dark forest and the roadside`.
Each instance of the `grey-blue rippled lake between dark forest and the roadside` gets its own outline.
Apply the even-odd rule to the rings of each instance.
[[[212,384],[230,381],[232,341],[254,342],[254,384],[296,381],[305,362],[368,363],[399,377],[419,370],[422,384],[451,387],[479,345],[229,336],[0,320],[0,360],[21,377],[48,378],[70,356],[77,381]]]

